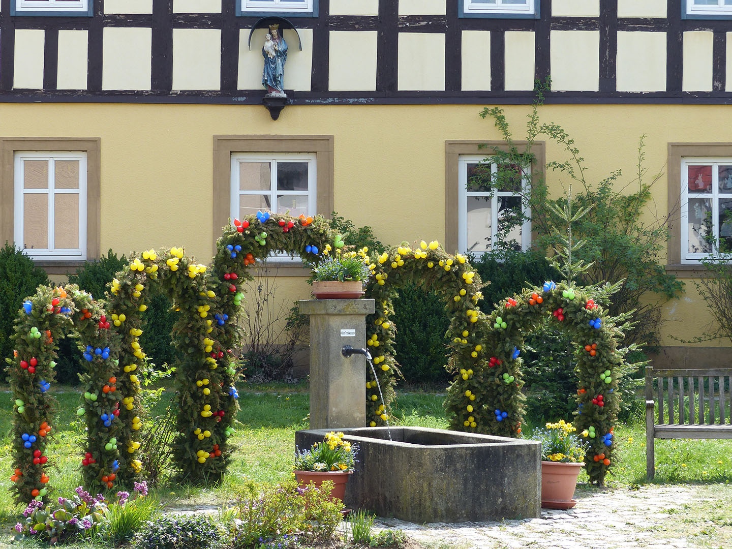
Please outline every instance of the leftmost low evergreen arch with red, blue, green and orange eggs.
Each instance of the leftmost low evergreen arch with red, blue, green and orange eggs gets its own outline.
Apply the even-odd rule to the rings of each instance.
[[[56,366],[55,341],[67,335],[78,337],[81,345],[91,349],[93,355],[89,368],[81,378],[85,386],[106,387],[94,390],[87,403],[98,410],[97,421],[92,414],[86,416],[88,429],[85,456],[97,443],[109,444],[109,452],[95,452],[97,459],[85,457],[90,467],[84,471],[84,480],[91,486],[108,488],[113,485],[119,471],[116,452],[116,433],[119,430],[119,400],[116,395],[116,356],[119,351],[119,335],[110,330],[100,330],[104,324],[104,311],[91,295],[79,291],[76,285],[65,288],[40,286],[36,294],[23,302],[22,313],[15,321],[15,343],[12,359],[7,359],[10,389],[15,399],[16,414],[13,417],[12,468],[14,472],[10,490],[15,500],[27,502],[42,500],[51,492],[51,477],[46,473],[53,465],[53,456],[46,452],[48,439],[55,430],[55,400],[48,394]],[[98,352],[97,352],[98,349]],[[91,365],[91,362],[94,362]],[[92,400],[93,399],[93,400]],[[86,414],[81,407],[79,415]],[[102,416],[104,419],[101,419]],[[104,425],[104,424],[108,425]],[[110,442],[111,441],[111,442]],[[51,460],[51,463],[48,463]],[[98,477],[98,479],[97,479]],[[111,477],[111,480],[110,480]]]

